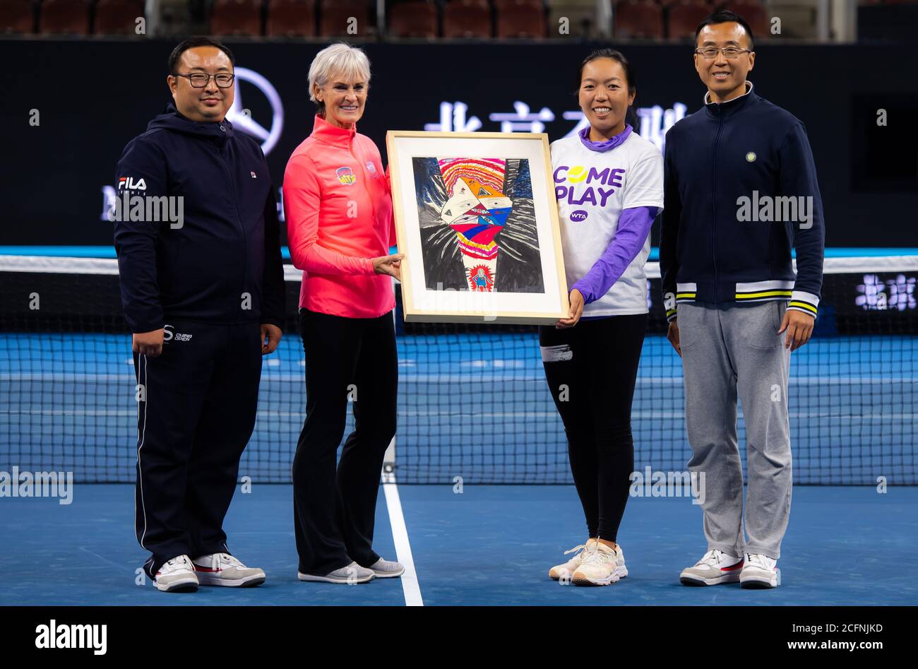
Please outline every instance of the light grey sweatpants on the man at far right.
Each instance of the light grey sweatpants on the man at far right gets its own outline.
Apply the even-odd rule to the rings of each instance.
[[[704,471],[708,550],[777,560],[790,515],[790,352],[778,334],[786,303],[677,307],[686,387],[689,471]],[[736,398],[746,428],[748,490],[743,530],[743,468]]]

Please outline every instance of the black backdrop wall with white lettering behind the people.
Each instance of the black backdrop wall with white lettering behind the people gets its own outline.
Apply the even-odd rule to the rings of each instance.
[[[174,42],[0,40],[6,64],[2,103],[0,244],[111,244],[102,221],[103,186],[129,139],[169,101],[166,60]],[[268,154],[280,186],[289,154],[312,127],[309,62],[323,45],[229,42],[237,67],[266,77],[283,103],[284,127]],[[602,45],[608,46],[608,45]],[[380,147],[386,130],[423,130],[441,103],[467,105],[480,130],[501,130],[492,114],[522,102],[554,140],[574,128],[572,79],[585,44],[368,44],[373,80],[358,129]],[[690,45],[624,45],[637,71],[636,107],[701,105],[704,88]],[[825,205],[827,244],[918,246],[918,78],[912,50],[897,46],[762,45],[750,80],[809,131]],[[268,126],[272,108],[241,83],[243,107]],[[889,107],[886,127],[875,109]],[[32,109],[39,125],[29,124]],[[456,128],[453,128],[456,130]],[[657,130],[662,130],[659,128]],[[879,148],[878,148],[879,147]],[[885,152],[885,153],[884,153]],[[891,166],[891,176],[890,176]],[[874,169],[876,167],[876,169]]]

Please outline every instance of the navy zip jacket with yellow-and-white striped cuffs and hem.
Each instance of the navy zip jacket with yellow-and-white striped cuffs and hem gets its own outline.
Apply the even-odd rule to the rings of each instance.
[[[681,301],[787,300],[788,309],[815,316],[825,228],[803,123],[751,84],[743,96],[720,104],[705,96],[705,103],[666,133],[666,318],[676,317]]]

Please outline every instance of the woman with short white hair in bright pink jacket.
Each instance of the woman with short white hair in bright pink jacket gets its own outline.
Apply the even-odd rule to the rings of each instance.
[[[299,327],[306,351],[306,421],[293,462],[299,579],[365,583],[401,564],[373,548],[379,474],[396,433],[398,367],[392,278],[402,255],[379,150],[356,123],[370,62],[333,44],[309,67],[312,134],[284,175],[287,238],[303,270]],[[356,421],[344,443],[347,405]]]

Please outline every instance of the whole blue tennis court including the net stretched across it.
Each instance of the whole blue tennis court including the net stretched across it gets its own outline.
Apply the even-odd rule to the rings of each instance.
[[[302,349],[288,327],[263,361],[255,432],[226,524],[230,550],[268,580],[195,595],[138,584],[146,556],[133,531],[136,380],[118,322],[118,276],[99,265],[111,261],[61,258],[54,262],[72,263],[69,274],[46,271],[48,263],[39,274],[17,271],[19,260],[6,267],[5,289],[39,282],[42,308],[5,312],[0,328],[0,476],[69,472],[73,488],[67,505],[0,499],[8,585],[0,604],[912,604],[918,258],[837,260],[817,332],[791,361],[796,486],[776,590],[679,584],[705,545],[700,506],[678,485],[629,501],[619,538],[628,578],[595,589],[549,580],[548,568],[586,538],[537,336],[397,318],[398,429],[375,550],[409,573],[360,587],[297,582],[290,465],[306,398]],[[287,283],[295,292],[295,278]],[[650,306],[633,404],[635,471],[678,483],[690,455],[681,366],[654,324],[659,305]],[[744,457],[742,413],[739,428]]]

